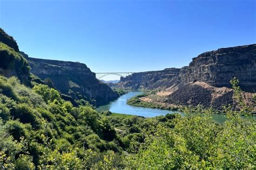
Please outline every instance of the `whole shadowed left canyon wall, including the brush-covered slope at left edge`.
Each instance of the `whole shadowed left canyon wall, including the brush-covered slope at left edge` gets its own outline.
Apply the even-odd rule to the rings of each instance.
[[[92,104],[102,105],[118,97],[109,86],[98,81],[95,73],[83,63],[29,58],[19,51],[15,39],[1,28],[0,75],[17,76],[28,86],[32,86],[31,80],[45,83],[42,80],[49,78],[55,88],[64,94],[63,98],[73,104],[76,104],[75,100],[85,99]]]

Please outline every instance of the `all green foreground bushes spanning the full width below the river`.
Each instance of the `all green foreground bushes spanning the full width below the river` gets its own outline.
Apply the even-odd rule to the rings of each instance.
[[[186,117],[155,118],[98,114],[73,107],[46,85],[33,89],[0,77],[1,169],[255,168],[255,120],[251,110],[226,107],[227,121],[212,110],[187,109]]]

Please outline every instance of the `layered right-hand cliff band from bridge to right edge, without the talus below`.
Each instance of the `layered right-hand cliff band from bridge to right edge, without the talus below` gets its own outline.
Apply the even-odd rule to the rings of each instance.
[[[206,82],[214,87],[230,87],[237,77],[242,90],[256,91],[256,45],[220,48],[193,58],[190,66],[154,72],[134,73],[121,79],[124,88],[169,88],[180,82]]]

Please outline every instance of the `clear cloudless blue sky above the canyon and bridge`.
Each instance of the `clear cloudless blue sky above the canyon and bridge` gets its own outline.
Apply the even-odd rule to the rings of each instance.
[[[34,58],[79,61],[93,72],[141,72],[255,44],[255,11],[256,1],[247,0],[0,0],[0,27]]]

